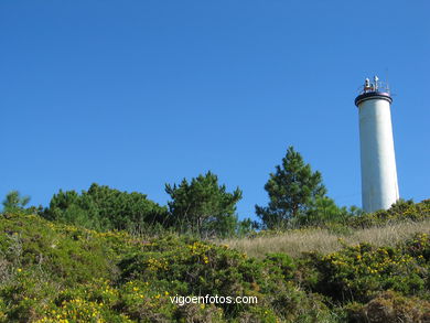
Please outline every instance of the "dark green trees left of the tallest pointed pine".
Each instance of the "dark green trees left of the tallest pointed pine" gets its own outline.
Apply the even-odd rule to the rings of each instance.
[[[191,182],[166,184],[171,196],[166,206],[149,200],[146,194],[123,192],[106,185],[92,184],[88,191],[62,191],[54,194],[50,205],[26,207],[29,196],[10,192],[3,201],[3,213],[37,213],[42,217],[88,229],[128,230],[132,234],[157,234],[165,230],[200,237],[245,235],[258,224],[238,220],[236,204],[241,191],[226,191],[212,172]]]

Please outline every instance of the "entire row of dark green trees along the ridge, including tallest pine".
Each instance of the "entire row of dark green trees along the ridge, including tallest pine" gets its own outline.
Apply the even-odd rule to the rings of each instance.
[[[96,230],[128,230],[157,233],[172,230],[200,237],[246,235],[258,228],[284,229],[326,223],[344,223],[361,211],[338,207],[326,195],[320,172],[292,147],[289,147],[276,172],[265,185],[267,206],[256,205],[260,223],[238,220],[236,205],[243,196],[237,187],[227,192],[212,172],[179,184],[165,184],[168,205],[149,200],[146,194],[122,192],[106,185],[92,184],[87,191],[62,191],[54,194],[50,205],[26,208],[28,196],[14,191],[3,201],[3,212],[37,213],[50,220],[84,226]]]

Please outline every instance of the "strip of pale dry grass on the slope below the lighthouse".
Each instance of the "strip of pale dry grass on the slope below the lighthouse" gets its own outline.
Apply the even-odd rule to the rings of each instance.
[[[333,252],[341,249],[343,244],[369,243],[375,246],[394,246],[416,233],[430,233],[430,220],[356,229],[347,234],[330,233],[326,229],[292,230],[278,236],[227,239],[221,243],[250,257],[262,258],[268,252],[300,257],[305,251]]]

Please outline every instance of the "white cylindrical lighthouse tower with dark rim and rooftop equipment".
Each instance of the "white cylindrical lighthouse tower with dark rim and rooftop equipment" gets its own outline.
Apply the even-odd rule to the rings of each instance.
[[[366,78],[355,98],[359,116],[362,203],[365,212],[387,209],[399,200],[387,85]]]

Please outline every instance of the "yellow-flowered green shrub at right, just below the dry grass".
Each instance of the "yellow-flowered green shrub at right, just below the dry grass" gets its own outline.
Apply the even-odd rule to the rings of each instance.
[[[309,263],[318,272],[313,288],[341,302],[367,302],[384,290],[405,295],[426,293],[428,267],[407,251],[361,244],[325,256],[312,254]]]

